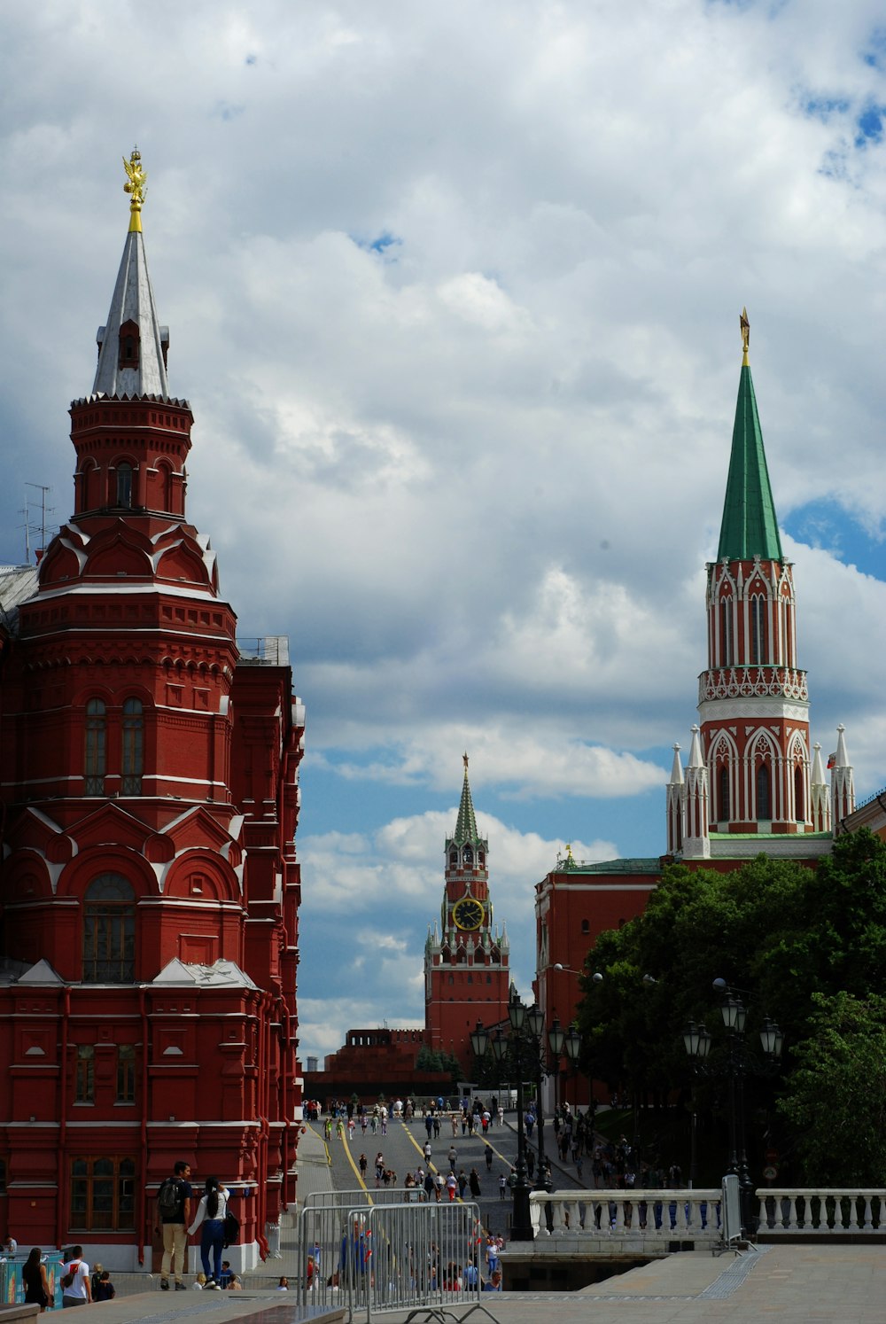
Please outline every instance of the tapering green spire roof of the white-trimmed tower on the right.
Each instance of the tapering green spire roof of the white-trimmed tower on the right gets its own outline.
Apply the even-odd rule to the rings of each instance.
[[[754,381],[746,363],[735,406],[732,455],[716,559],[751,561],[755,556],[764,561],[783,559]]]

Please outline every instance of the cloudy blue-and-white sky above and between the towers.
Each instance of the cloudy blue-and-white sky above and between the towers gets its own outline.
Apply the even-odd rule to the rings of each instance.
[[[0,111],[0,560],[138,144],[188,515],[307,706],[302,1058],[422,1023],[462,751],[524,996],[566,843],[664,850],[743,306],[812,735],[886,785],[882,4],[7,0]]]

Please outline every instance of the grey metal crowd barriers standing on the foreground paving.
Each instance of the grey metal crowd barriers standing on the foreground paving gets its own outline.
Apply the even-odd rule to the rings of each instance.
[[[477,1205],[416,1201],[347,1207],[338,1200],[344,1192],[318,1194],[307,1197],[299,1215],[303,1311],[344,1307],[350,1317],[366,1313],[367,1324],[385,1311],[461,1320],[478,1309],[494,1319],[481,1304],[483,1237]]]

